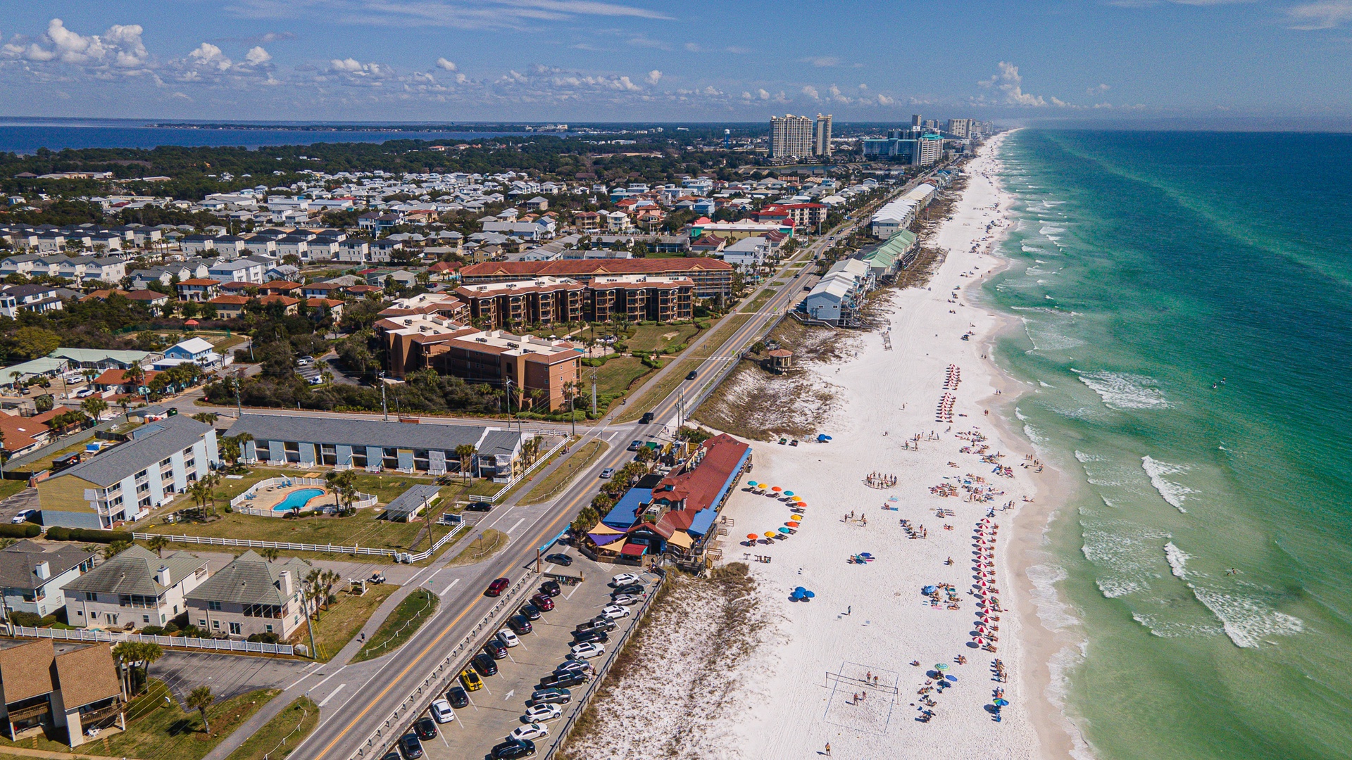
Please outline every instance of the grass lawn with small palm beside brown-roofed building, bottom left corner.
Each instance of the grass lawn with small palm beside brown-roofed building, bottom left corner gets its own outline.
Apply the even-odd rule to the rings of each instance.
[[[216,702],[207,707],[207,721],[211,723],[208,734],[203,730],[201,715],[196,710],[184,710],[177,700],[165,702],[168,691],[164,682],[151,679],[146,692],[127,705],[126,732],[104,734],[81,745],[76,752],[112,757],[200,760],[268,700],[281,694],[280,688],[262,688]],[[42,736],[19,741],[0,738],[0,752],[5,746],[68,755],[72,752],[69,745]]]

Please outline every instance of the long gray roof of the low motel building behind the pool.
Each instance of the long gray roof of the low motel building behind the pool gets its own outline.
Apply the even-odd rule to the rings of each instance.
[[[491,430],[475,425],[410,425],[379,419],[341,419],[334,417],[273,417],[246,414],[230,429],[230,435],[249,433],[256,441],[300,441],[307,444],[342,444],[346,446],[384,446],[404,449],[456,450],[469,444],[483,448],[493,440],[500,448],[518,433]],[[488,453],[488,452],[484,452]]]

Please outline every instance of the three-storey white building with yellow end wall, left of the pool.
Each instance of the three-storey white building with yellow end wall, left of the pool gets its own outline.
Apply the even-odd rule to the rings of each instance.
[[[218,461],[211,425],[183,415],[145,425],[130,440],[38,483],[42,523],[108,529],[139,519]]]

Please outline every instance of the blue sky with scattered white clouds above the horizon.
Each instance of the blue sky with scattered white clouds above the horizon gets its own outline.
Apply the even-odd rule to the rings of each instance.
[[[1352,0],[0,0],[5,116],[1352,118]]]

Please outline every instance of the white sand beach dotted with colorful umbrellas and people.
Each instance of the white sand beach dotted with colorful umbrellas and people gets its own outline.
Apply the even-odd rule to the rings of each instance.
[[[999,142],[967,165],[964,196],[929,242],[948,250],[929,289],[888,296],[891,350],[882,334],[864,333],[852,358],[811,368],[845,388],[819,425],[833,440],[756,444],[744,487],[758,481],[803,498],[796,533],[752,546],[746,534],[777,530],[792,519],[790,506],[740,490],[725,507],[735,523],[725,561],[748,560],[763,603],[781,615],[742,668],[744,710],[725,717],[735,723],[734,756],[803,757],[827,742],[833,757],[852,759],[1065,755],[1045,696],[1055,648],[1025,641],[1025,632],[1032,642],[1049,634],[1029,613],[1028,583],[1011,576],[1021,568],[1007,549],[1025,519],[1033,527],[1019,544],[1036,548],[1053,473],[1038,475],[1028,441],[996,419],[1015,394],[986,358],[1005,322],[968,293],[1000,266],[988,254],[1007,223],[994,180]],[[873,487],[871,473],[895,485]],[[860,553],[872,559],[854,561]],[[982,583],[984,596],[973,588]],[[933,599],[922,594],[927,586],[938,587]],[[795,587],[815,596],[792,602]],[[998,694],[1007,706],[996,721]]]

